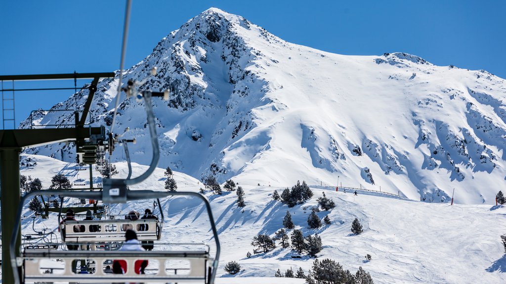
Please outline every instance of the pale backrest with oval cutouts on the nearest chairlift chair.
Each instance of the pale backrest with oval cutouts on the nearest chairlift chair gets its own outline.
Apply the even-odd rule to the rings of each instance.
[[[64,268],[56,268],[56,273],[47,273],[47,259],[61,259]],[[113,274],[105,269],[95,269],[93,273],[81,273],[74,269],[75,260],[86,259],[94,261],[97,267],[104,267],[111,260],[123,260],[128,269],[124,274]],[[207,283],[208,273],[212,268],[212,260],[208,250],[195,251],[26,251],[23,256],[25,283],[37,282],[201,282]],[[135,262],[148,260],[151,273],[137,274],[134,271]],[[154,260],[154,261],[153,261]],[[189,270],[186,274],[171,273],[180,269],[171,267],[167,260],[187,260]],[[43,269],[44,268],[44,269]],[[61,271],[63,270],[63,271]],[[46,273],[45,273],[46,272]]]

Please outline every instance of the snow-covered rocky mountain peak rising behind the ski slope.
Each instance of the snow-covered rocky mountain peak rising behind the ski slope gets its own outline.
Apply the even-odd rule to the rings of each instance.
[[[483,70],[405,53],[330,54],[216,8],[164,37],[123,80],[140,80],[153,66],[158,74],[143,88],[171,90],[169,103],[154,100],[160,166],[198,179],[284,186],[339,176],[346,186],[414,200],[441,193],[448,201],[455,188],[456,203],[493,204],[506,177],[506,83]],[[101,81],[93,124],[112,122],[116,87],[117,79]],[[86,98],[82,91],[54,109],[82,108]],[[73,119],[58,115],[37,123]],[[122,100],[115,125],[131,127],[140,164],[150,161],[144,117],[142,105]],[[74,160],[72,146],[27,153]]]

